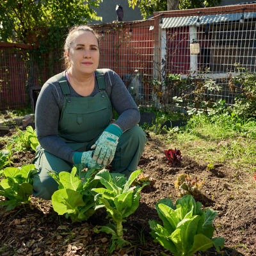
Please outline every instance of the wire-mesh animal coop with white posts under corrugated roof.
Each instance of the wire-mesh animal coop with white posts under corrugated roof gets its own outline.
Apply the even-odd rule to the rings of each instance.
[[[202,100],[234,103],[239,93],[232,84],[234,77],[245,70],[256,71],[255,8],[255,4],[246,4],[156,13],[155,76],[161,77],[162,92],[168,98],[162,100],[164,104],[175,104],[173,97],[190,95],[198,83],[207,84],[200,87]],[[179,83],[175,74],[180,76]],[[163,83],[166,77],[169,86]]]

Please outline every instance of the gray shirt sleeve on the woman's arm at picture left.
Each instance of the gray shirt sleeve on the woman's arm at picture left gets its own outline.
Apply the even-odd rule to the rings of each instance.
[[[74,150],[58,137],[62,98],[63,95],[56,84],[44,84],[36,100],[36,136],[47,152],[72,163]]]

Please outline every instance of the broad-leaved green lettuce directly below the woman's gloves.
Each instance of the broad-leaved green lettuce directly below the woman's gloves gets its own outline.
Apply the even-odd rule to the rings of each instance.
[[[58,190],[52,195],[52,207],[59,215],[65,214],[72,222],[88,220],[95,212],[95,193],[92,188],[97,188],[98,180],[93,179],[97,170],[90,169],[87,172],[76,175],[77,168],[72,172],[51,171],[49,175],[59,184]],[[82,181],[83,179],[83,181]]]

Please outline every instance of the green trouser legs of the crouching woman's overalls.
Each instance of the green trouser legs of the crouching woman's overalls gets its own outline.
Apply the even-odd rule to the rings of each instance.
[[[143,153],[147,138],[145,132],[138,125],[125,131],[116,147],[115,157],[111,163],[111,172],[124,173],[125,176],[137,170],[137,165]],[[51,196],[58,189],[58,183],[47,174],[49,170],[55,172],[70,172],[72,163],[56,157],[40,148],[33,161],[38,173],[33,177],[33,195],[51,200]]]

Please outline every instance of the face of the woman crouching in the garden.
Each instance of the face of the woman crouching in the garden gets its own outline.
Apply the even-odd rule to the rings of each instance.
[[[77,31],[67,52],[73,71],[90,74],[99,66],[99,45],[90,31]]]

